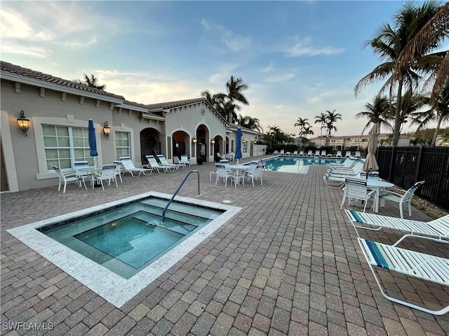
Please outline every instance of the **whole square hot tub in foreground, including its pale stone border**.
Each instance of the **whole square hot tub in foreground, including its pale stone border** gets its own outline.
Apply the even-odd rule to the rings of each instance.
[[[151,243],[146,239],[148,231],[156,229],[152,218],[150,218],[152,214],[149,214],[151,212],[149,209],[145,209],[145,211],[142,209],[148,207],[148,204],[145,204],[148,202],[166,204],[170,197],[171,195],[163,193],[149,192],[22,225],[8,230],[8,232],[114,306],[121,307],[145,286],[175,265],[189,251],[192,251],[195,246],[201,244],[204,239],[229,221],[241,209],[227,204],[177,196],[175,197],[176,204],[170,204],[166,213],[166,226],[157,228],[158,237],[163,236],[166,242],[163,244],[164,246],[157,246],[156,251],[156,246],[150,246]],[[188,209],[170,211],[172,205],[175,208],[188,207]],[[208,212],[207,215],[204,215],[205,209]],[[163,208],[159,207],[156,212],[159,211],[161,214],[162,210]],[[187,215],[181,214],[182,212],[187,212]],[[199,212],[202,212],[203,215],[198,216]],[[185,218],[182,217],[192,214],[196,219],[191,221],[192,218],[190,218],[187,221],[189,223],[186,224]],[[101,215],[101,220],[96,217],[98,215]],[[138,225],[136,221],[132,221],[133,228],[128,231],[130,235],[128,239],[115,240],[111,235],[108,237],[109,232],[123,227],[122,218],[127,216],[140,218],[136,221],[145,221],[145,223],[142,222]],[[51,235],[63,237],[62,240],[71,240],[72,242],[65,241],[62,244],[53,239],[55,237],[46,235],[46,231],[53,232]],[[167,235],[169,239],[167,239]],[[67,246],[66,243],[67,245],[72,244],[72,246]],[[122,246],[115,246],[116,249],[110,250],[111,244],[121,244]],[[74,245],[81,246],[81,251],[76,251],[77,247]],[[133,255],[128,255],[131,251],[130,246],[133,247],[132,250],[135,249],[136,253]],[[100,254],[95,257],[99,260],[91,258],[94,250],[100,251]],[[140,258],[140,255],[149,251],[152,252],[152,255]],[[140,255],[138,255],[139,253]],[[115,258],[117,255],[114,257],[112,254],[119,255],[119,258]],[[119,265],[118,269],[112,270],[112,264]],[[137,270],[137,272],[131,272],[133,270]]]

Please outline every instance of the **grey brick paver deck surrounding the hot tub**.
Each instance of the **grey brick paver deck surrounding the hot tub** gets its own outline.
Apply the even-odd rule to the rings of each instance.
[[[57,186],[1,194],[1,334],[449,334],[449,314],[432,316],[381,295],[340,210],[342,190],[323,182],[326,166],[310,167],[307,174],[264,172],[264,185],[254,188],[209,183],[212,162],[191,169],[200,172],[201,196],[196,174],[180,196],[230,201],[226,204],[242,210],[121,308],[6,230],[149,191],[173,193],[189,169],[139,178],[126,174],[118,189],[105,191],[69,184],[65,194]],[[397,217],[397,204],[386,205],[380,214]],[[430,219],[417,209],[412,218]],[[389,244],[400,234],[361,235]],[[440,245],[410,239],[404,246],[449,258],[447,244]],[[381,278],[410,300],[430,307],[449,302],[448,287],[387,272]]]

